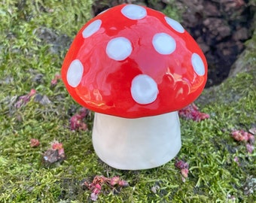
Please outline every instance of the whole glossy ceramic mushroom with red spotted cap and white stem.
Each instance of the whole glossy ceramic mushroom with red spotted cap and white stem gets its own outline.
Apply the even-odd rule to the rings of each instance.
[[[62,65],[69,94],[96,112],[96,154],[126,170],[176,156],[177,111],[194,102],[206,78],[206,58],[181,24],[139,5],[118,5],[86,23]]]

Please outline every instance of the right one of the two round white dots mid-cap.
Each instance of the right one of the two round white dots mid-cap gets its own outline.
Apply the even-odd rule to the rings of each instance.
[[[160,54],[170,54],[174,52],[176,48],[176,42],[174,38],[166,33],[157,33],[152,40],[154,49]]]

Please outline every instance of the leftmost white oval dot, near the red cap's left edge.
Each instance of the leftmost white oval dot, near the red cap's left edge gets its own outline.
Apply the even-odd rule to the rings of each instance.
[[[67,80],[70,86],[76,87],[81,82],[84,67],[78,59],[72,61],[67,72]]]

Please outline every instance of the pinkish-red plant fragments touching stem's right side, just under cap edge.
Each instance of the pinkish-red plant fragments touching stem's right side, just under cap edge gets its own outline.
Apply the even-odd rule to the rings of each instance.
[[[197,122],[208,119],[210,117],[209,114],[200,112],[199,108],[197,108],[197,106],[194,103],[179,110],[178,115],[184,119],[194,120]]]

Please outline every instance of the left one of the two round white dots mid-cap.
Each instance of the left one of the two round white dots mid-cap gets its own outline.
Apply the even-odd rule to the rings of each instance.
[[[117,61],[126,59],[132,53],[132,44],[126,38],[114,38],[108,42],[106,53],[108,57]]]

